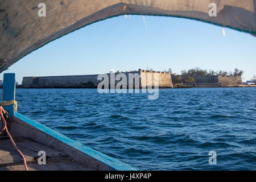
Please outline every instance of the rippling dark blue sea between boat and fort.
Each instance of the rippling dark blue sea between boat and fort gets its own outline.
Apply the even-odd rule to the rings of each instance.
[[[2,93],[2,91],[1,91]],[[256,88],[17,89],[18,112],[145,170],[256,170]],[[209,165],[209,151],[217,165]]]

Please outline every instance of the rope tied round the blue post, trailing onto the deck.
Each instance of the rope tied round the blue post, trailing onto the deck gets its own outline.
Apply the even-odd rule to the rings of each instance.
[[[28,168],[27,168],[27,161],[26,161],[26,158],[25,156],[22,154],[22,152],[20,152],[20,150],[18,149],[18,147],[16,146],[14,140],[13,140],[13,137],[11,137],[11,134],[9,133],[8,129],[7,129],[7,123],[5,121],[5,117],[3,116],[3,114],[6,113],[5,109],[3,109],[2,106],[7,106],[7,105],[15,105],[15,111],[17,110],[17,102],[16,101],[3,101],[1,104],[0,104],[0,115],[1,115],[1,119],[2,119],[2,122],[3,122],[3,129],[2,131],[0,132],[0,134],[3,132],[3,131],[6,131],[7,135],[9,136],[11,142],[13,143],[14,147],[16,148],[16,150],[19,152],[20,156],[22,156],[22,159],[23,159],[23,163],[24,163],[24,167],[26,169],[26,171],[28,171]]]

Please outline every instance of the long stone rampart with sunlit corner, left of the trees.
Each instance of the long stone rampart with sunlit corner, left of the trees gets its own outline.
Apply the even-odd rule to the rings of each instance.
[[[172,88],[170,72],[144,71],[139,69],[133,72],[123,72],[129,82],[129,75],[138,75],[139,82],[133,78],[133,87],[142,88],[145,86],[155,86],[155,79],[159,80],[159,88]],[[107,73],[110,88],[110,73]],[[114,74],[115,77],[118,73]],[[76,76],[42,76],[42,77],[23,77],[21,88],[97,88],[102,80],[97,80],[98,75],[76,75]],[[122,80],[122,79],[121,79]],[[120,80],[115,80],[115,85]],[[139,85],[138,85],[139,84]],[[127,85],[128,88],[128,85]]]

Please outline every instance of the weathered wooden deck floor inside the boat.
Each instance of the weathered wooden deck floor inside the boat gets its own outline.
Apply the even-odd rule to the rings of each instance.
[[[88,168],[72,160],[64,152],[55,150],[43,144],[33,142],[23,137],[15,137],[15,143],[27,160],[30,171],[85,171]],[[38,164],[38,152],[46,151],[46,165]],[[0,138],[0,171],[24,171],[22,157],[15,150],[8,137]]]

